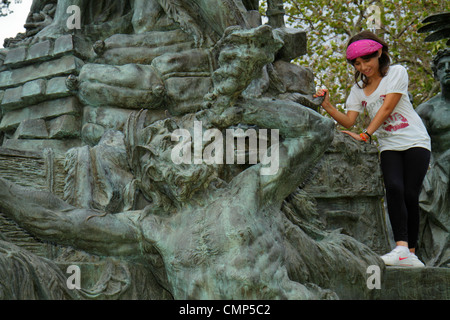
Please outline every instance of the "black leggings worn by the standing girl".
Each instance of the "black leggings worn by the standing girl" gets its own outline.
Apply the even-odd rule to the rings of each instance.
[[[417,246],[419,194],[428,170],[431,152],[424,148],[381,152],[381,170],[394,240]]]

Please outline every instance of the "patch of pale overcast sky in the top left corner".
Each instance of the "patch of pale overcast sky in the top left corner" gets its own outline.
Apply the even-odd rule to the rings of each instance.
[[[3,48],[5,38],[15,37],[18,33],[24,32],[23,25],[30,11],[33,0],[10,0],[9,8],[14,11],[6,17],[0,17],[0,48]],[[20,3],[16,3],[20,2]]]

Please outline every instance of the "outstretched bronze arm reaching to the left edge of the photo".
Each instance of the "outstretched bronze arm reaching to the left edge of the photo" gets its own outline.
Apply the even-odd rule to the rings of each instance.
[[[78,209],[52,193],[23,188],[0,178],[0,211],[42,240],[99,255],[139,254],[139,232],[124,214]]]

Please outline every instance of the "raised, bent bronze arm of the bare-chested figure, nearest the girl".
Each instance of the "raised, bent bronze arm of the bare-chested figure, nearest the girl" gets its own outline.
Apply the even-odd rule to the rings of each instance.
[[[261,175],[261,183],[265,198],[284,200],[327,150],[333,140],[334,122],[288,101],[255,100],[243,107],[243,122],[279,130],[278,172]]]

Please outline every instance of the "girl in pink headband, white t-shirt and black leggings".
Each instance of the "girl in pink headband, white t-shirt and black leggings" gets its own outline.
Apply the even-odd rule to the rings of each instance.
[[[396,247],[381,258],[386,265],[423,267],[415,255],[419,233],[419,193],[428,170],[431,142],[408,97],[408,73],[390,65],[387,44],[369,31],[350,39],[347,61],[355,67],[355,85],[347,98],[347,113],[330,103],[328,90],[322,107],[350,128],[367,109],[371,122],[361,133],[344,131],[358,141],[379,142],[386,200]],[[409,249],[409,250],[408,250]]]

